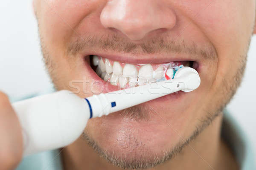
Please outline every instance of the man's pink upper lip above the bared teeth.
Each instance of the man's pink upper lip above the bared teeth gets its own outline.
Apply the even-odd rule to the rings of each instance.
[[[130,53],[117,53],[112,51],[103,52],[88,52],[83,54],[83,57],[96,55],[102,58],[111,59],[113,61],[124,62],[129,64],[160,64],[164,62],[175,61],[196,61],[199,62],[197,56],[189,54],[130,54]]]

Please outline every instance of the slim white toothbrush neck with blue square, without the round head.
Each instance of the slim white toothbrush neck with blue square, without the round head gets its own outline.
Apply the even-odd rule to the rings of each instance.
[[[177,78],[106,94],[93,95],[87,97],[87,100],[91,105],[93,117],[97,117],[139,105],[184,88],[185,84],[182,79]]]

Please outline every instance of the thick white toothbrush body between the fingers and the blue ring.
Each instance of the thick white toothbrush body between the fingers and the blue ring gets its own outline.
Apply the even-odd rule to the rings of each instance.
[[[66,90],[15,102],[12,106],[23,129],[23,156],[72,143],[90,118],[87,102]]]

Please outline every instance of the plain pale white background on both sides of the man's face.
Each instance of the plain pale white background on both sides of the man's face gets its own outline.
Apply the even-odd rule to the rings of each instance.
[[[18,98],[50,88],[32,10],[32,0],[0,1],[0,91]],[[256,37],[245,76],[228,109],[247,131],[256,153]]]

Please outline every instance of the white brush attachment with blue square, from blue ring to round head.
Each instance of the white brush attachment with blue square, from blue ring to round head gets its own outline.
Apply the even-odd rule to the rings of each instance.
[[[134,88],[87,97],[93,117],[108,115],[134,105],[157,99],[177,91],[193,91],[200,85],[200,77],[193,68],[183,67],[174,79],[154,82]]]

